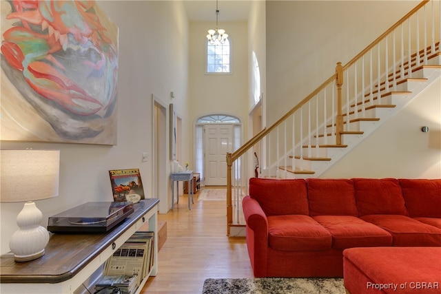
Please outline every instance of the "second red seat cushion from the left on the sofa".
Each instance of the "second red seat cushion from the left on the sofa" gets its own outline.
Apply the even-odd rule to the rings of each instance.
[[[332,248],[391,246],[392,235],[354,216],[314,216],[332,235]]]

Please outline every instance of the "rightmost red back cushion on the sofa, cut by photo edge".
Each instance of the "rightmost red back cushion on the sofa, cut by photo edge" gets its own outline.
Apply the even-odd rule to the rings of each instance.
[[[441,218],[441,180],[400,179],[411,218]]]

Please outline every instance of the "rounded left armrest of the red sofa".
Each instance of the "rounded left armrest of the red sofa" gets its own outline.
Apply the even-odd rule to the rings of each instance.
[[[242,200],[247,222],[247,248],[255,277],[267,276],[268,220],[260,204],[250,196]]]

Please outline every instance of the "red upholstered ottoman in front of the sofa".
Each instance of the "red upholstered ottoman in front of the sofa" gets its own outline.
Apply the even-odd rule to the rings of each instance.
[[[343,251],[350,294],[441,293],[441,247],[359,247]]]

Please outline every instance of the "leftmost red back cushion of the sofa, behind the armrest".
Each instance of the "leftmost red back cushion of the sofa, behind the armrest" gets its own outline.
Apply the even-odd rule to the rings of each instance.
[[[309,216],[306,182],[303,179],[249,179],[249,196],[259,202],[267,216],[304,214]]]

